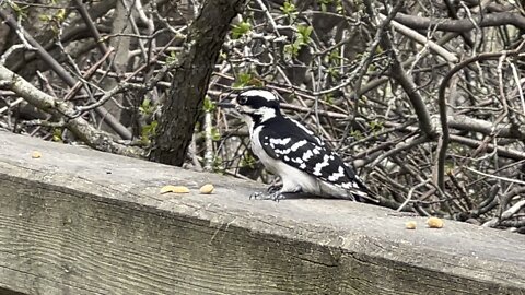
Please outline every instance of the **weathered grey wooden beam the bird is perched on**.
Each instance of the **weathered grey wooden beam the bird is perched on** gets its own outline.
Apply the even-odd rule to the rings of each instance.
[[[40,158],[31,153],[39,151]],[[198,194],[213,182],[215,194]],[[191,193],[159,194],[186,185]],[[525,294],[525,237],[0,132],[0,287],[26,294]]]

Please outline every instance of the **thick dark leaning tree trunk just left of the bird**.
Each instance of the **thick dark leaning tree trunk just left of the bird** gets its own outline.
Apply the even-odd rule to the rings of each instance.
[[[244,2],[205,0],[200,14],[189,27],[187,49],[176,61],[178,64],[159,120],[150,160],[183,165],[230,22],[242,10]]]

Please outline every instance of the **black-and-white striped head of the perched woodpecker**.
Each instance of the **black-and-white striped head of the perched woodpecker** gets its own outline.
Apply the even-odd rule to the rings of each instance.
[[[235,107],[249,128],[281,115],[279,97],[267,90],[247,90],[241,92],[231,106]]]

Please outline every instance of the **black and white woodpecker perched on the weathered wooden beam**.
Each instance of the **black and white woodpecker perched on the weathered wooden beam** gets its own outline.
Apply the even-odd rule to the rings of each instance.
[[[254,154],[281,178],[282,188],[270,187],[267,198],[307,193],[377,203],[338,154],[306,127],[281,114],[272,92],[244,91],[233,103],[248,125]]]

